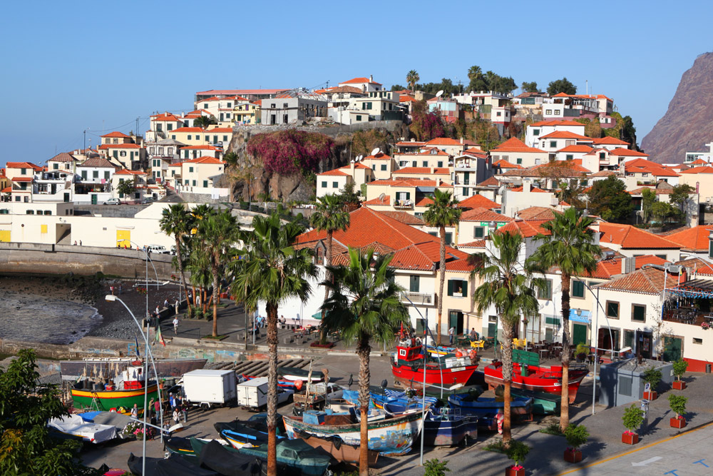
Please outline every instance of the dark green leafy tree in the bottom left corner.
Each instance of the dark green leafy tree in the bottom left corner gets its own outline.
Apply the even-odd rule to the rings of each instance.
[[[0,474],[4,476],[100,475],[81,465],[81,442],[51,436],[47,421],[69,415],[56,385],[39,379],[34,350],[23,349],[0,368]]]

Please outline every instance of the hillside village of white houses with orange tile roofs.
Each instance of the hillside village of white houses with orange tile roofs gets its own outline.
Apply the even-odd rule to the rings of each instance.
[[[458,335],[475,329],[492,337],[497,313],[478,312],[473,292],[481,283],[468,257],[493,253],[489,237],[508,231],[524,238],[524,262],[541,243],[538,235],[548,234],[543,223],[576,207],[595,219],[591,228],[602,255],[593,273],[573,277],[572,343],[637,348],[645,358],[683,357],[689,370],[705,370],[713,360],[707,333],[713,325],[713,226],[705,224],[713,203],[713,142],[709,151],[684,158],[651,157],[603,132],[621,116],[602,94],[390,91],[372,76],[314,91],[199,91],[192,110],[154,114],[143,135],[110,131],[96,147],[63,151],[45,164],[7,162],[0,176],[0,242],[169,248],[174,240],[160,231],[159,220],[170,203],[231,201],[234,178],[228,180],[225,158],[234,152],[235,134],[408,125],[418,103],[446,124],[485,121],[501,141],[400,137],[388,150],[377,147],[315,173],[314,198],[359,195],[349,227],[334,233],[333,263],[346,262],[349,247],[393,253],[416,331],[427,323],[441,335],[454,328]],[[593,122],[600,136],[587,135]],[[623,215],[591,200],[593,191],[617,186],[629,207]],[[438,228],[424,221],[436,190],[451,193],[462,210],[457,225],[445,230],[445,269]],[[309,215],[311,207],[301,210]],[[314,250],[323,270],[325,232],[307,231],[297,246]],[[438,296],[442,274],[446,293]],[[540,312],[523,318],[518,338],[562,339],[559,270],[544,278]],[[319,315],[322,298],[315,292],[307,303],[287,303],[285,312],[299,309],[307,320]],[[439,300],[441,328],[435,320]]]

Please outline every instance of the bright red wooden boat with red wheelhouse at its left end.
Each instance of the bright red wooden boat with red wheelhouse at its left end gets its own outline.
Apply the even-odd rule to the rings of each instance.
[[[423,347],[415,345],[410,340],[401,341],[396,346],[396,355],[391,361],[391,373],[394,378],[406,388],[422,390],[424,373],[426,387],[451,387],[451,385],[466,385],[478,368],[478,361],[469,357],[426,358],[424,370]]]

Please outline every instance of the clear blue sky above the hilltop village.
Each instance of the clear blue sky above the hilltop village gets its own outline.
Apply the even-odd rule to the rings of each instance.
[[[634,119],[639,141],[708,41],[713,4],[533,2],[10,2],[0,17],[0,164],[43,163],[101,131],[148,128],[212,88],[566,76]],[[434,10],[437,8],[438,10]]]

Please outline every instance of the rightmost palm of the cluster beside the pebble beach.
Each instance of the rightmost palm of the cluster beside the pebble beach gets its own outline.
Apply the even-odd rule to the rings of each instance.
[[[198,224],[198,236],[208,258],[212,275],[213,337],[218,336],[218,295],[220,293],[219,271],[231,255],[231,245],[238,239],[238,226],[230,210],[210,213]]]

